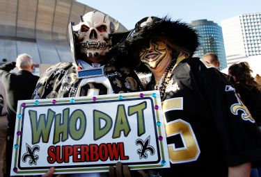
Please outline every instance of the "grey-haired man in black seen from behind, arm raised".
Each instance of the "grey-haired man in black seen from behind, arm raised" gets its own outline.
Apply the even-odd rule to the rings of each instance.
[[[17,74],[10,73],[15,67],[18,69]],[[10,176],[17,101],[31,99],[39,78],[34,76],[31,71],[33,71],[33,60],[26,53],[19,55],[16,62],[8,62],[0,66],[0,79],[6,90],[8,119],[6,153],[3,153],[3,176]]]

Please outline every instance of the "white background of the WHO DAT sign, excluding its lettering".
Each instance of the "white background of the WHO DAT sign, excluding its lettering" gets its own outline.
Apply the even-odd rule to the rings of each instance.
[[[168,160],[168,151],[166,146],[166,135],[163,124],[163,117],[161,113],[161,102],[159,99],[159,92],[143,92],[143,97],[140,96],[141,92],[130,93],[130,94],[113,94],[106,96],[96,96],[97,100],[93,101],[90,97],[77,97],[77,98],[64,98],[64,99],[55,99],[56,103],[52,103],[53,99],[42,99],[38,100],[38,103],[35,104],[35,100],[26,100],[19,101],[17,106],[17,117],[19,112],[21,112],[22,118],[17,118],[16,131],[22,131],[22,135],[17,135],[15,133],[14,145],[18,144],[19,147],[13,151],[13,162],[11,173],[13,175],[26,175],[33,172],[35,174],[44,174],[49,167],[55,167],[57,174],[63,173],[86,173],[86,172],[95,172],[95,171],[109,171],[109,166],[115,165],[116,162],[120,161],[125,165],[129,165],[130,169],[143,169],[143,168],[157,168],[157,167],[169,167]],[[152,96],[152,94],[154,94]],[[122,96],[120,98],[119,96]],[[120,98],[120,99],[119,99]],[[73,103],[72,103],[73,99]],[[144,116],[144,126],[145,133],[138,136],[138,115],[128,115],[128,107],[136,106],[141,103],[146,103],[146,108],[143,110]],[[22,103],[26,103],[25,107],[22,107]],[[123,131],[120,132],[120,137],[113,138],[113,129],[116,125],[117,109],[119,105],[124,105],[125,115],[129,122],[129,134],[125,137]],[[158,106],[158,109],[155,109],[155,106]],[[38,144],[32,144],[32,130],[31,130],[31,121],[29,118],[29,110],[37,112],[37,118],[41,114],[45,114],[47,117],[47,112],[49,109],[53,110],[55,115],[61,114],[63,117],[63,110],[69,108],[70,113],[69,117],[74,110],[83,110],[86,117],[86,130],[84,136],[80,140],[72,140],[70,133],[68,135],[68,140],[64,142],[58,142],[53,144],[54,139],[54,124],[55,119],[52,123],[52,128],[49,134],[49,142],[43,143],[42,138]],[[109,115],[113,119],[111,130],[109,133],[101,137],[99,140],[94,140],[94,121],[93,121],[93,110],[98,110],[104,112],[106,115]],[[20,122],[19,122],[20,121]],[[159,123],[161,125],[159,126]],[[19,127],[19,124],[21,126]],[[68,123],[69,124],[69,123]],[[79,119],[77,121],[77,128],[79,128]],[[101,121],[101,126],[105,125],[105,121]],[[68,125],[74,126],[74,125]],[[68,130],[69,132],[69,130]],[[163,140],[159,140],[159,136],[163,137]],[[141,144],[136,144],[136,140],[141,139],[143,142],[149,138],[149,146],[152,146],[155,149],[155,153],[150,153],[146,151],[147,158],[141,158],[141,155],[137,151],[141,151]],[[60,138],[62,140],[62,138]],[[18,142],[18,143],[17,143]],[[129,156],[129,160],[98,160],[97,162],[72,162],[72,155],[68,163],[57,163],[49,164],[47,161],[48,157],[48,148],[49,146],[65,146],[73,144],[106,144],[106,143],[118,143],[123,142],[124,144],[124,153],[125,156]],[[38,155],[39,159],[37,160],[37,165],[29,164],[29,158],[26,158],[26,162],[23,162],[22,156],[28,153],[26,149],[26,144],[29,144],[31,148],[38,145],[40,151],[34,151],[34,155]],[[80,158],[81,155],[77,155]],[[16,168],[16,169],[15,169]],[[16,171],[17,170],[17,171]],[[15,172],[16,171],[16,172]],[[60,172],[59,172],[60,171]]]

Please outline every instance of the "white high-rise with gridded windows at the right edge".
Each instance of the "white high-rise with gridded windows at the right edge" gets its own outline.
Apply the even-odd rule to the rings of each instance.
[[[261,13],[238,15],[221,22],[228,65],[261,55]]]

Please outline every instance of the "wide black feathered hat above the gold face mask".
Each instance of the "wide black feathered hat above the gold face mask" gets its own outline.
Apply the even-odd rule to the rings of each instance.
[[[137,52],[144,46],[148,46],[152,37],[155,36],[166,37],[169,43],[175,45],[180,51],[188,53],[189,56],[193,55],[199,45],[198,34],[188,24],[180,20],[172,21],[168,17],[145,17],[136,23],[127,40],[116,46],[118,57],[120,57],[118,61],[128,67],[139,65]]]

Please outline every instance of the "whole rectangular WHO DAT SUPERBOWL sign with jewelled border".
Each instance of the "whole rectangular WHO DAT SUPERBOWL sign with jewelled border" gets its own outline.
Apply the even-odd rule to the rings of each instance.
[[[11,174],[169,167],[158,91],[19,101]]]

